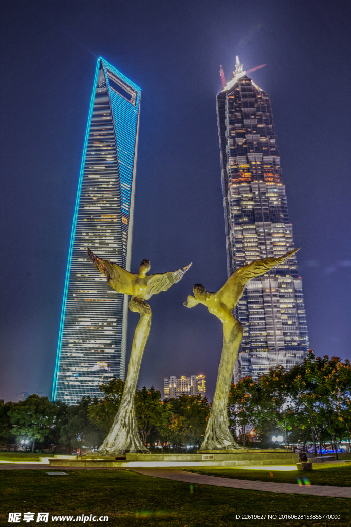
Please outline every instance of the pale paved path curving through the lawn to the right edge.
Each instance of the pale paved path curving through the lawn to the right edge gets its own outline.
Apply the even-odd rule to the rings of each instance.
[[[270,483],[266,481],[235,480],[231,477],[206,476],[176,469],[129,469],[144,476],[164,477],[167,480],[186,481],[197,485],[214,485],[245,489],[249,491],[279,492],[285,494],[313,494],[314,496],[332,496],[351,498],[351,487],[334,487],[329,485],[303,485],[294,483]]]

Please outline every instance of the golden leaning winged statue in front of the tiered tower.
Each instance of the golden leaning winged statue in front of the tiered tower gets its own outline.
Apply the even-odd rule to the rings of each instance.
[[[249,280],[264,275],[265,272],[275,266],[283,264],[298,250],[299,247],[278,258],[254,260],[250,264],[240,267],[217,292],[206,291],[202,284],[195,284],[193,288],[194,296],[188,296],[184,302],[186,307],[203,304],[208,308],[209,313],[212,313],[212,315],[222,321],[223,325],[222,357],[204,441],[200,448],[201,451],[243,448],[236,443],[234,437],[230,434],[227,412],[230,383],[243,335],[243,327],[239,320],[233,317],[232,310],[242,297],[244,287]]]

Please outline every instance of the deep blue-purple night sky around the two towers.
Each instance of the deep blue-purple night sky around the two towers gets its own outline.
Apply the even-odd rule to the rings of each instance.
[[[215,96],[236,54],[272,98],[310,348],[350,357],[350,4],[253,0],[3,3],[0,398],[51,396],[69,239],[99,55],[141,86],[132,271],[193,262],[150,301],[139,386],[204,374],[222,327],[182,303],[227,278]],[[129,314],[128,350],[137,314]]]

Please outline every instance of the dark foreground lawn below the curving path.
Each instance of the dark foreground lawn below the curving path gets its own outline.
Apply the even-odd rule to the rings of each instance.
[[[330,521],[333,525],[351,521],[351,500],[347,499],[189,485],[125,470],[80,470],[67,474],[1,471],[0,525],[9,525],[8,513],[15,511],[49,512],[48,525],[71,527],[80,523],[52,522],[52,514],[108,515],[106,527],[232,527],[235,514],[340,514],[340,520],[277,521],[266,516],[264,520],[242,522],[265,527],[282,523],[287,527],[329,527]]]

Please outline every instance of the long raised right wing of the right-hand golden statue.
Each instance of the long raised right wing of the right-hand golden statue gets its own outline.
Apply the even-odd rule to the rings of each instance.
[[[293,249],[285,253],[279,258],[264,258],[263,260],[254,260],[248,265],[239,267],[230,278],[225,282],[224,286],[216,293],[218,300],[222,301],[228,309],[233,309],[236,306],[239,298],[243,294],[244,287],[252,278],[264,275],[265,272],[273,269],[273,267],[283,264],[288,258],[292,257],[295,252],[299,250]]]

